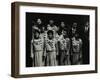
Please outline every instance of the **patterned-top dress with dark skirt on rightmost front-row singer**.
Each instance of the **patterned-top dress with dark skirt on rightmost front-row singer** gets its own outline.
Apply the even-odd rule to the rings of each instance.
[[[72,64],[81,64],[82,61],[82,40],[72,38]]]

